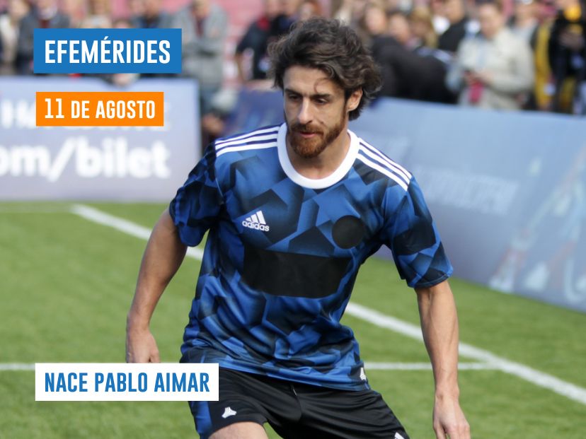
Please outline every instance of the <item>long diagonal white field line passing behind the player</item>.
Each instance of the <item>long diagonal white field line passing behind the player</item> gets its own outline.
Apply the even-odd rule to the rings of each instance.
[[[108,213],[98,211],[98,209],[93,209],[92,207],[84,206],[82,204],[76,204],[72,206],[71,212],[82,216],[89,221],[100,223],[104,226],[113,227],[124,233],[128,233],[129,235],[136,236],[137,238],[142,238],[144,240],[148,240],[151,233],[151,230],[132,223],[131,221],[112,216]],[[194,248],[190,248],[188,250],[188,256],[193,257],[194,259],[201,260],[202,255],[202,250]],[[372,323],[378,327],[391,329],[391,331],[398,332],[399,334],[403,334],[412,339],[423,341],[421,329],[415,324],[403,322],[403,320],[398,320],[396,317],[384,315],[381,312],[371,310],[370,308],[358,305],[357,303],[348,303],[345,312],[347,312],[349,315],[352,315],[352,317],[365,320],[366,322]],[[560,380],[553,375],[540,372],[539,370],[530,368],[527,365],[515,363],[514,361],[507,360],[506,358],[496,356],[490,351],[478,349],[475,346],[471,346],[469,344],[460,343],[459,352],[462,356],[472,358],[476,361],[488,363],[487,365],[490,367],[497,368],[498,370],[502,370],[502,372],[509,373],[511,375],[515,375],[519,378],[522,378],[523,380],[532,382],[534,385],[544,387],[548,390],[556,392],[557,394],[561,394],[564,397],[573,399],[574,401],[586,405],[586,389],[582,387],[567,381]]]

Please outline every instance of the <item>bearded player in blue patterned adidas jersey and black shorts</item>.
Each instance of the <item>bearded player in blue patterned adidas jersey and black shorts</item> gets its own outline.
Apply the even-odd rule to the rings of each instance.
[[[347,129],[379,88],[372,58],[321,18],[270,57],[286,123],[215,141],[190,172],[146,246],[127,361],[159,361],[149,320],[207,231],[181,359],[219,363],[219,401],[190,403],[201,437],[267,438],[268,422],[283,438],[408,439],[340,324],[360,264],[388,245],[417,292],[437,438],[468,439],[452,267],[413,176]]]

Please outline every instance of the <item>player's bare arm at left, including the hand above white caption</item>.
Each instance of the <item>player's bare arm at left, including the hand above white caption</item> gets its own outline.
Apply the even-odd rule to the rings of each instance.
[[[144,250],[137,288],[126,324],[127,363],[159,363],[159,349],[149,329],[151,316],[167,284],[179,269],[187,247],[166,209]]]

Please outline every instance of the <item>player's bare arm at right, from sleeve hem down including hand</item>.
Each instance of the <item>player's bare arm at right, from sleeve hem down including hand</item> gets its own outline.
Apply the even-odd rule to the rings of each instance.
[[[447,281],[415,288],[425,347],[435,379],[433,428],[437,439],[469,439],[470,426],[459,403],[458,317]]]

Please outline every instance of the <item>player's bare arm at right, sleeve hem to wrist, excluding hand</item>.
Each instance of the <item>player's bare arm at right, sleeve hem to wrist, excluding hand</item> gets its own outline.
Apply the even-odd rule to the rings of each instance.
[[[458,317],[447,281],[418,288],[423,339],[432,362],[436,397],[459,397]]]

